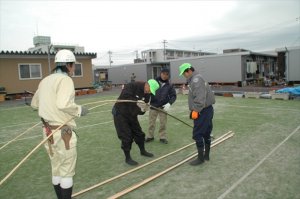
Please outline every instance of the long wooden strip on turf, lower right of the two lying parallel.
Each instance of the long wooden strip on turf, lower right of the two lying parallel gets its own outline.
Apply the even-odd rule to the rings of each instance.
[[[211,147],[217,146],[218,144],[220,144],[220,143],[224,142],[225,140],[231,138],[233,135],[234,135],[234,133],[231,133],[230,135],[224,137],[223,139],[218,140],[217,142],[215,142],[214,144],[212,144]],[[135,185],[133,185],[133,186],[127,188],[127,189],[124,189],[123,191],[120,191],[120,192],[118,192],[117,194],[114,194],[114,195],[110,196],[108,199],[116,199],[116,198],[119,198],[119,197],[121,197],[121,196],[123,196],[123,195],[125,195],[125,194],[127,194],[127,193],[129,193],[129,192],[131,192],[131,191],[133,191],[133,190],[135,190],[135,189],[137,189],[137,188],[139,188],[139,187],[145,185],[145,184],[147,184],[148,182],[151,182],[152,180],[155,180],[156,178],[158,178],[158,177],[160,177],[160,176],[166,174],[167,172],[169,172],[169,171],[171,171],[171,170],[177,168],[178,166],[184,164],[185,162],[187,162],[187,161],[193,159],[193,158],[196,157],[196,156],[197,156],[197,152],[194,153],[194,154],[192,154],[190,157],[188,157],[188,158],[182,160],[181,162],[179,162],[179,163],[177,163],[177,164],[175,164],[175,165],[169,167],[168,169],[166,169],[166,170],[164,170],[164,171],[162,171],[162,172],[159,172],[159,173],[157,173],[157,174],[155,174],[155,175],[153,175],[153,176],[151,176],[151,177],[149,177],[149,178],[146,178],[145,180],[143,180],[143,181],[141,181],[141,182],[139,182],[139,183],[137,183],[137,184],[135,184]]]

